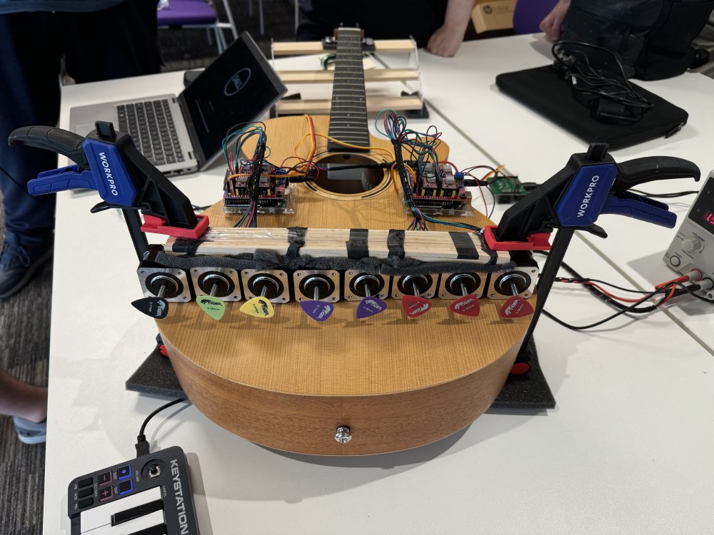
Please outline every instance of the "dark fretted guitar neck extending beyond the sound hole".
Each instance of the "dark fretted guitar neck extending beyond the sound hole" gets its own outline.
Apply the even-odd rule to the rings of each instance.
[[[362,65],[362,36],[358,28],[340,28],[337,31],[335,79],[332,86],[330,111],[331,138],[352,148],[328,141],[328,151],[368,151],[367,99]]]

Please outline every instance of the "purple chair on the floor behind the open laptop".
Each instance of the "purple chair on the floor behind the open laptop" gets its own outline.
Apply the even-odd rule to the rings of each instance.
[[[231,7],[228,0],[223,0],[223,8],[226,11],[228,22],[218,19],[218,12],[211,4],[205,0],[167,0],[162,2],[164,7],[156,11],[159,19],[159,28],[205,28],[206,31],[213,29],[216,36],[216,48],[221,54],[227,47],[226,38],[223,36],[223,29],[231,30],[233,39],[238,39],[238,31],[233,21]],[[211,34],[208,34],[208,41],[211,41]]]

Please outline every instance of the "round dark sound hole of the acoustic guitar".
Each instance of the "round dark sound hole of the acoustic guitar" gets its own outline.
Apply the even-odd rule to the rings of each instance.
[[[384,180],[384,169],[366,167],[377,163],[361,154],[331,154],[318,161],[320,174],[313,182],[331,193],[365,193]]]

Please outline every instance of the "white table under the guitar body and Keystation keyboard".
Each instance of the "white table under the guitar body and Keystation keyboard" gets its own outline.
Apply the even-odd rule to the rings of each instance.
[[[60,124],[74,103],[180,84],[181,73],[167,73],[69,86]],[[485,158],[441,119],[433,113],[429,122],[443,130],[455,162]],[[193,203],[208,204],[220,198],[222,175],[217,166],[175,183]],[[69,481],[133,457],[141,422],[164,402],[124,388],[156,327],[130,305],[141,296],[136,255],[116,211],[89,214],[98,200],[58,195],[47,535],[69,532]],[[580,240],[566,260],[625,282]],[[572,287],[554,290],[546,309],[574,323],[610,313]],[[710,355],[661,314],[597,334],[543,319],[535,337],[558,407],[484,414],[426,447],[363,458],[281,454],[226,432],[193,407],[155,417],[147,436],[154,448],[179,445],[188,453],[203,535],[708,531]]]

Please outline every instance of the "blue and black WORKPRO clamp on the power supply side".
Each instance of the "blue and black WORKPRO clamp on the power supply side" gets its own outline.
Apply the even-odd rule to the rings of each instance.
[[[595,225],[603,213],[673,228],[677,216],[669,211],[668,205],[628,191],[641,183],[668,178],[699,180],[700,171],[692,162],[670,156],[637,158],[618,164],[608,154],[607,143],[593,143],[587,153],[570,156],[562,170],[508,208],[498,227],[483,229],[484,240],[493,250],[549,251],[536,287],[538,300],[531,324],[511,373],[522,374],[530,369],[531,348],[535,347],[531,342],[533,331],[575,230],[607,238],[605,230]],[[554,229],[558,233],[550,245]]]

